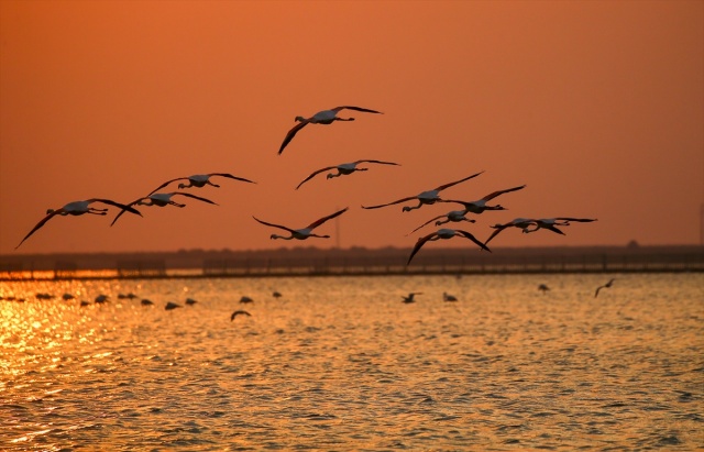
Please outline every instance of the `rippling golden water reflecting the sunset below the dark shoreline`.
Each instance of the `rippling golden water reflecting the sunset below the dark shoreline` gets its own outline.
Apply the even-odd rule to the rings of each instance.
[[[702,274],[18,282],[0,295],[26,299],[0,301],[2,451],[704,449]],[[231,321],[237,309],[251,317]]]

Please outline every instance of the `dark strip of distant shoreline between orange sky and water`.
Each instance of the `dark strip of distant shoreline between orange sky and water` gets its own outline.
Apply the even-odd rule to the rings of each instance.
[[[704,272],[704,246],[386,247],[0,256],[0,280]]]

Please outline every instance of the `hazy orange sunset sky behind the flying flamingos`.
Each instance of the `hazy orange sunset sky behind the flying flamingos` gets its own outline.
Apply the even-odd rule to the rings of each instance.
[[[344,104],[384,114],[344,111],[277,155],[296,115]],[[400,166],[295,189],[366,158]],[[459,225],[480,240],[516,217],[598,219],[495,247],[701,243],[704,2],[0,2],[0,254],[410,247],[459,206],[361,206],[480,170],[443,197],[527,185]],[[47,208],[202,173],[257,184],[213,179],[188,192],[219,206],[175,198],[114,227],[113,208],[55,217],[14,250]],[[273,241],[252,218],[304,228],[343,207],[329,240]]]

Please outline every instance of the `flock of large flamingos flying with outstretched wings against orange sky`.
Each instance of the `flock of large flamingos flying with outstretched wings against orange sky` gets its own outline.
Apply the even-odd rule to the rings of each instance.
[[[342,110],[352,110],[352,111],[359,111],[359,112],[365,112],[365,113],[376,113],[376,114],[382,114],[381,111],[376,111],[376,110],[371,110],[371,109],[366,109],[366,108],[360,108],[360,107],[352,107],[352,106],[342,106],[342,107],[336,107],[333,109],[330,110],[322,110],[319,111],[318,113],[314,114],[310,118],[304,118],[304,117],[296,117],[295,121],[297,122],[297,124],[290,129],[288,131],[288,133],[286,134],[284,142],[282,143],[279,150],[278,150],[278,154],[280,155],[284,150],[286,148],[286,146],[292,142],[292,140],[296,136],[296,134],[298,132],[300,132],[300,130],[302,130],[306,125],[308,124],[332,124],[336,121],[354,121],[354,118],[340,118],[338,117],[338,113],[341,112]],[[328,167],[323,167],[320,168],[316,172],[314,172],[312,174],[310,174],[308,177],[306,177],[300,184],[298,184],[298,186],[296,187],[296,189],[299,189],[305,183],[307,183],[308,180],[312,179],[314,177],[316,177],[317,175],[324,173],[324,172],[330,172],[330,170],[337,170],[337,173],[329,173],[327,175],[327,178],[334,178],[334,177],[340,177],[340,176],[346,176],[346,175],[351,175],[355,172],[365,172],[369,170],[369,168],[366,167],[360,167],[360,165],[363,164],[375,164],[375,165],[398,165],[397,163],[394,162],[384,162],[384,161],[378,161],[378,159],[360,159],[356,162],[352,162],[352,163],[343,163],[340,165],[336,165],[336,166],[328,166]],[[476,174],[473,174],[471,176],[464,177],[462,179],[459,180],[454,180],[448,184],[443,184],[440,185],[436,188],[422,191],[418,195],[415,196],[408,196],[405,198],[400,198],[397,199],[395,201],[391,201],[391,202],[385,202],[385,203],[381,203],[381,205],[376,205],[376,206],[362,206],[363,209],[380,209],[383,207],[387,207],[387,206],[394,206],[394,205],[399,205],[399,203],[404,203],[404,202],[410,202],[410,201],[417,201],[418,203],[416,206],[404,206],[404,208],[402,209],[402,211],[407,212],[414,209],[419,209],[422,206],[427,206],[427,205],[433,205],[436,202],[450,202],[450,203],[455,203],[455,205],[460,205],[461,208],[458,210],[452,210],[446,214],[439,216],[439,217],[435,217],[431,218],[430,220],[426,221],[425,223],[422,223],[421,225],[419,225],[418,228],[416,228],[415,230],[413,230],[410,233],[414,233],[416,231],[418,231],[419,229],[430,224],[431,222],[435,221],[435,225],[440,227],[442,224],[446,223],[460,223],[460,222],[469,222],[469,223],[474,223],[475,220],[472,218],[468,218],[468,214],[481,214],[487,210],[505,210],[504,207],[502,207],[501,205],[495,205],[495,206],[490,206],[487,205],[490,201],[492,201],[493,199],[497,198],[498,196],[502,196],[504,194],[507,192],[512,192],[512,191],[517,191],[517,190],[521,190],[524,188],[526,188],[526,185],[521,185],[521,186],[517,186],[517,187],[512,187],[512,188],[507,188],[507,189],[502,189],[502,190],[496,190],[493,191],[486,196],[484,196],[481,199],[474,200],[474,201],[465,201],[465,200],[454,200],[454,199],[443,199],[440,197],[442,190],[450,188],[452,186],[455,186],[460,183],[463,183],[465,180],[470,180],[474,177],[480,176],[482,173],[484,172],[480,172]],[[238,181],[242,181],[242,183],[248,183],[248,184],[256,184],[253,180],[246,179],[244,177],[239,177],[239,176],[234,176],[232,174],[229,173],[210,173],[210,174],[198,174],[198,175],[193,175],[193,176],[188,176],[188,177],[177,177],[174,179],[169,179],[163,184],[161,184],[158,187],[156,187],[155,189],[153,189],[152,191],[150,191],[147,195],[140,197],[138,199],[135,199],[132,202],[129,203],[121,203],[121,202],[117,202],[113,201],[111,199],[105,199],[105,198],[91,198],[91,199],[86,199],[86,200],[80,200],[80,201],[74,201],[74,202],[69,202],[67,205],[65,205],[64,207],[59,208],[59,209],[50,209],[46,211],[46,216],[40,220],[36,225],[24,236],[24,239],[22,239],[22,241],[18,244],[18,246],[15,246],[15,250],[22,244],[24,243],[25,240],[28,240],[32,234],[34,234],[38,229],[41,229],[44,224],[46,224],[46,222],[48,220],[51,220],[52,218],[56,217],[56,216],[81,216],[81,214],[98,214],[98,216],[106,216],[108,213],[108,208],[97,208],[94,207],[94,205],[97,203],[102,203],[102,205],[107,205],[107,206],[112,206],[112,207],[117,207],[119,210],[119,212],[117,213],[117,216],[114,217],[114,219],[112,220],[110,225],[113,225],[119,219],[120,217],[125,213],[132,213],[135,216],[142,216],[142,213],[136,209],[138,207],[147,207],[147,206],[156,206],[156,207],[166,207],[166,206],[175,206],[175,207],[179,207],[183,208],[186,205],[180,203],[175,201],[173,198],[177,198],[179,199],[180,197],[185,197],[185,198],[191,198],[201,202],[208,202],[208,203],[212,203],[212,205],[217,205],[216,202],[213,202],[210,199],[204,198],[204,197],[199,197],[196,195],[193,195],[190,192],[187,191],[183,191],[184,189],[188,189],[191,187],[196,187],[196,188],[201,188],[205,186],[212,186],[212,187],[219,187],[219,185],[215,184],[211,179],[215,177],[224,177],[224,178],[229,178],[229,179],[233,179],[233,180],[238,180]],[[178,190],[175,191],[161,191],[162,189],[168,187],[172,184],[178,183]],[[316,234],[314,231],[321,227],[322,224],[324,224],[327,221],[337,218],[339,216],[341,216],[342,213],[344,213],[349,208],[344,208],[341,210],[338,210],[331,214],[328,214],[326,217],[322,217],[314,222],[311,222],[310,224],[308,224],[305,228],[301,229],[293,229],[283,224],[276,224],[276,223],[272,223],[268,221],[264,221],[261,220],[256,217],[253,217],[255,221],[257,221],[258,223],[270,227],[270,228],[275,228],[275,229],[279,229],[283,231],[288,232],[288,235],[279,235],[279,234],[272,234],[271,239],[283,239],[283,240],[306,240],[306,239],[310,239],[310,238],[322,238],[322,239],[327,239],[329,238],[329,235],[320,235],[320,234]],[[592,222],[592,221],[596,221],[596,219],[591,219],[591,218],[572,218],[572,217],[558,217],[558,218],[516,218],[513,221],[509,221],[507,223],[504,224],[495,224],[492,228],[494,229],[493,233],[488,236],[488,239],[484,242],[480,241],[479,239],[476,239],[472,233],[463,230],[463,229],[449,229],[449,228],[440,228],[431,233],[428,233],[421,238],[419,238],[416,242],[416,244],[414,245],[410,255],[408,256],[408,261],[407,261],[407,265],[410,264],[410,262],[413,261],[414,256],[416,255],[416,253],[418,253],[418,251],[428,242],[431,241],[438,241],[438,240],[448,240],[448,239],[452,239],[452,238],[463,238],[463,239],[468,239],[470,241],[472,241],[474,244],[476,244],[480,250],[484,250],[484,251],[490,251],[487,244],[488,242],[491,242],[492,240],[494,240],[494,238],[496,238],[496,235],[498,235],[502,231],[508,229],[508,228],[517,228],[520,229],[524,233],[531,233],[531,232],[536,232],[538,230],[544,229],[551,232],[554,232],[557,234],[562,234],[564,235],[564,232],[562,232],[558,227],[566,227],[570,225],[570,223],[572,222]]]

